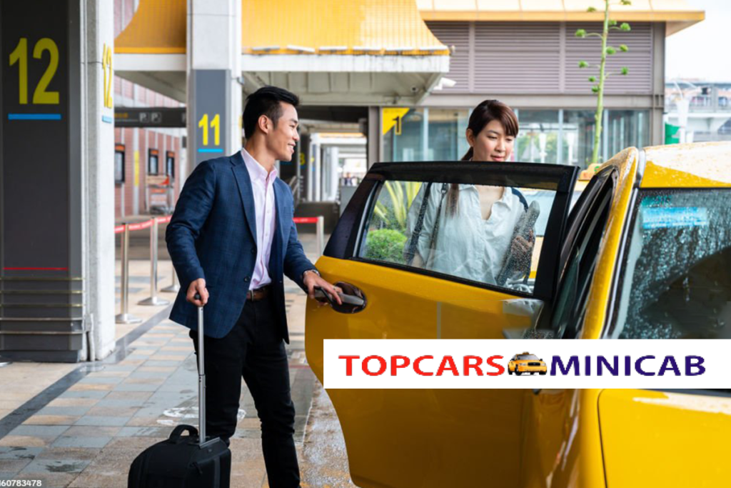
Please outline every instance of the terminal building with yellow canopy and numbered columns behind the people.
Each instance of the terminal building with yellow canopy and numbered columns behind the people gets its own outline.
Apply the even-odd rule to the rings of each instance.
[[[518,113],[516,160],[585,167],[596,98],[578,61],[599,45],[574,32],[599,25],[592,2],[69,0],[39,18],[4,2],[2,49],[22,62],[2,68],[0,353],[111,353],[115,219],[169,211],[194,165],[238,151],[260,86],[300,96],[303,137],[279,172],[300,207],[343,202],[375,162],[458,159],[485,99]],[[662,143],[664,39],[704,15],[684,0],[614,8],[632,30],[612,34],[629,52],[610,70],[629,75],[607,84],[603,157]],[[23,53],[37,83],[46,51],[58,72],[28,100]]]

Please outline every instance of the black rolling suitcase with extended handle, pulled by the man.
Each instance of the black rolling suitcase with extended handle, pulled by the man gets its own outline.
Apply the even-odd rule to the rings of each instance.
[[[127,488],[228,488],[231,451],[220,438],[205,438],[203,307],[198,309],[198,429],[178,425],[170,438],[145,449],[129,468]],[[181,435],[183,432],[189,435]]]

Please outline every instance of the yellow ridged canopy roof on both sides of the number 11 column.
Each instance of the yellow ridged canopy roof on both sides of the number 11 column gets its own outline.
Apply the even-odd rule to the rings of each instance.
[[[449,55],[414,0],[242,0],[248,54]],[[140,0],[115,53],[185,53],[186,0]]]

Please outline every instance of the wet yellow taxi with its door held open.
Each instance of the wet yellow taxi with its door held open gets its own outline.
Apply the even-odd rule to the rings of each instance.
[[[323,339],[730,339],[731,144],[625,149],[572,205],[577,172],[374,165],[317,262],[323,277],[361,299],[308,301],[306,353],[317,378]],[[540,200],[534,274],[510,255],[501,263],[467,254],[477,239],[469,230],[488,233],[485,222],[452,233],[444,229],[459,222],[436,225],[420,210],[427,187],[437,207],[441,189],[469,195],[476,185],[504,187],[506,212]],[[416,260],[420,213],[425,237],[416,242],[428,245],[417,246],[425,256]],[[731,479],[731,389],[327,394],[359,487],[719,487]]]

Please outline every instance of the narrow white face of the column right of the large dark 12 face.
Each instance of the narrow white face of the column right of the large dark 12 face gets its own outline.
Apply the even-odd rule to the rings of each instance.
[[[111,353],[115,345],[114,89],[113,66],[109,65],[114,52],[114,5],[104,0],[86,0],[83,4],[82,49],[86,53],[82,57],[82,83],[86,83],[86,100],[82,99],[85,127],[81,143],[86,197],[82,269],[86,283],[84,322],[90,350],[86,358],[80,359],[94,361]]]

